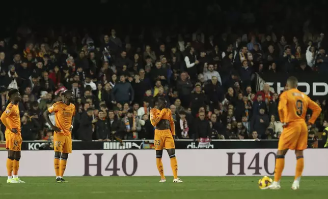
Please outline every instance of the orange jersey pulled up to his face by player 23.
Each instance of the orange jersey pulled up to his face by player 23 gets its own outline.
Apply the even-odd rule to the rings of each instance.
[[[175,135],[175,126],[172,117],[171,109],[165,108],[159,110],[157,108],[153,108],[150,110],[150,122],[153,126],[156,126],[160,120],[169,120],[170,121],[170,129],[172,135]]]

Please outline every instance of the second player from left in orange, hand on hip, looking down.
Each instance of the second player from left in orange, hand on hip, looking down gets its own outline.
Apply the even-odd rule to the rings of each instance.
[[[64,101],[54,103],[43,116],[51,126],[53,132],[54,171],[56,182],[67,182],[63,179],[68,154],[72,153],[72,129],[75,116],[74,93],[71,90],[64,92]],[[54,113],[56,124],[52,124],[49,114]]]

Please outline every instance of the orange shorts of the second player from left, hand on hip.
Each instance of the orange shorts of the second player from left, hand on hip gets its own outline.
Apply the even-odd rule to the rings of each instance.
[[[53,149],[55,152],[72,153],[72,135],[53,132]]]

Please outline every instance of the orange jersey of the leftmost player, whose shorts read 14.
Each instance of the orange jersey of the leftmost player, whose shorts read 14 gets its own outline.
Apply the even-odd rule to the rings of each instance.
[[[7,126],[7,127],[10,128],[8,130],[11,130],[12,128],[17,128],[18,135],[21,135],[20,134],[20,116],[19,116],[18,104],[15,105],[12,102],[9,103],[5,112],[1,116],[1,120],[3,121],[4,119],[6,119],[8,122],[9,126]]]

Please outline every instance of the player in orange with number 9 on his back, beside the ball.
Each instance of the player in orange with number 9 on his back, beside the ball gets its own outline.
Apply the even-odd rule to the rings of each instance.
[[[299,181],[304,169],[303,150],[308,147],[308,126],[312,125],[321,112],[321,108],[303,92],[297,89],[297,79],[289,77],[287,89],[280,95],[278,112],[284,129],[279,139],[275,168],[275,180],[269,189],[280,189],[280,179],[285,166],[285,154],[288,149],[295,150],[297,159],[295,179],[292,189],[299,189]],[[313,111],[308,124],[305,121],[307,110]]]

